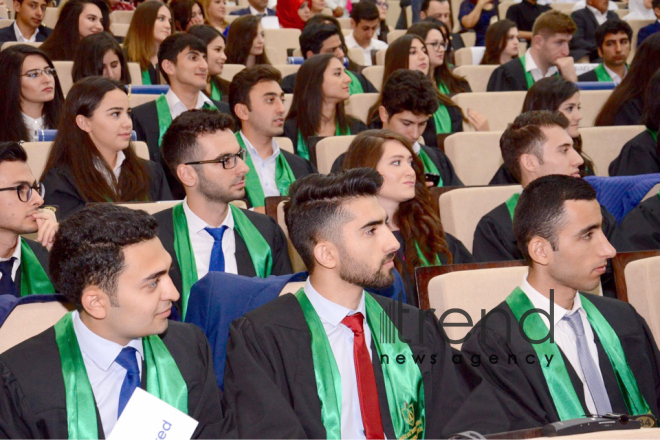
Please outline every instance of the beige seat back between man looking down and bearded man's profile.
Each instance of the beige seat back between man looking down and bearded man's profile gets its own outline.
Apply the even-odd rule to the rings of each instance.
[[[501,136],[501,131],[462,132],[445,139],[445,153],[464,184],[488,185],[504,163]]]

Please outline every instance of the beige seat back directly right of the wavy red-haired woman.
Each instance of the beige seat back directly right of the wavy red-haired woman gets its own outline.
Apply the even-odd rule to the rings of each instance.
[[[474,231],[481,217],[522,191],[520,185],[457,188],[440,195],[440,220],[445,232],[472,252]]]

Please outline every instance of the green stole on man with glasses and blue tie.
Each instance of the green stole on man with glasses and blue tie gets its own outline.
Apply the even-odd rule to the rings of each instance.
[[[249,218],[234,205],[229,205],[234,217],[234,229],[245,241],[245,246],[254,265],[254,271],[260,278],[266,278],[273,273],[273,252],[261,232],[252,224]],[[172,223],[174,225],[174,253],[181,269],[181,317],[186,318],[190,289],[199,279],[195,254],[190,244],[188,221],[183,210],[183,203],[175,205],[172,209]]]

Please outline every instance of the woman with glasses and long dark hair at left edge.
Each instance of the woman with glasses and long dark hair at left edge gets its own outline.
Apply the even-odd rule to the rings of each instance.
[[[41,50],[18,44],[0,52],[0,141],[34,142],[43,129],[55,129],[64,105],[52,61]]]

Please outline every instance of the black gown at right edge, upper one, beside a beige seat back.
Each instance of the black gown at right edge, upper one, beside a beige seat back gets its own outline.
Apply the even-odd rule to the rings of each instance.
[[[608,172],[610,176],[660,173],[658,144],[651,133],[645,130],[626,142]]]

